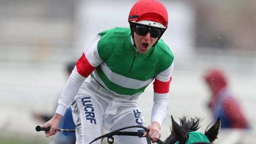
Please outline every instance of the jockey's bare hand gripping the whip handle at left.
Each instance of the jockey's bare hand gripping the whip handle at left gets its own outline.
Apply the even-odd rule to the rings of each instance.
[[[50,131],[45,131],[46,137],[50,137],[51,135],[55,135],[57,133],[57,128],[59,126],[59,121],[61,120],[61,115],[55,113],[54,116],[46,122],[42,127],[50,127]]]

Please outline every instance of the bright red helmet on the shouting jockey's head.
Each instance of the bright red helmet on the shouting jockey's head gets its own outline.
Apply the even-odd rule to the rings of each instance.
[[[168,13],[165,6],[157,0],[139,0],[132,7],[128,22],[166,29]]]

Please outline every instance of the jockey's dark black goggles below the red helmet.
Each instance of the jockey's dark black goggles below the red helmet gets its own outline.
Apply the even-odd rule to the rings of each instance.
[[[156,28],[152,26],[146,26],[143,24],[133,24],[134,32],[138,35],[145,36],[147,33],[150,33],[152,38],[158,38],[162,35],[165,29]]]

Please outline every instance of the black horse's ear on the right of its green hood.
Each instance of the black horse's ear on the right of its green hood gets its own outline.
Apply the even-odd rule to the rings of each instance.
[[[210,142],[213,142],[217,138],[220,126],[221,118],[218,118],[216,123],[208,131],[204,133],[206,137],[210,140]]]

